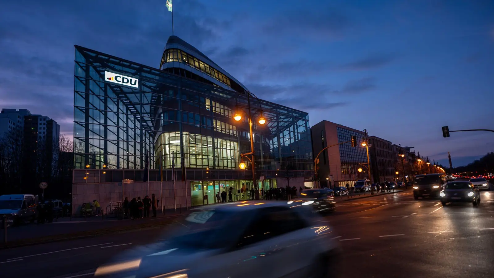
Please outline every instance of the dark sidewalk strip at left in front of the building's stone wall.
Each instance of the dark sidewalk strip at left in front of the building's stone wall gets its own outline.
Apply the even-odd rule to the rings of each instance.
[[[0,248],[45,243],[71,239],[76,237],[94,236],[97,234],[123,232],[128,230],[151,228],[164,226],[173,219],[186,215],[190,211],[178,210],[165,211],[165,214],[158,213],[157,217],[143,218],[139,220],[116,218],[102,219],[101,217],[86,218],[59,218],[52,223],[45,224],[24,224],[17,227],[7,228],[7,244],[3,241],[5,230],[1,230],[2,240]]]

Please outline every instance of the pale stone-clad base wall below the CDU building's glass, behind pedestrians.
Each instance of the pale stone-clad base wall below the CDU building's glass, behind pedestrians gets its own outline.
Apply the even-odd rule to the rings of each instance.
[[[182,208],[186,206],[190,207],[191,187],[190,185],[185,186],[185,182],[182,181],[175,182],[175,190],[173,189],[173,182],[163,182],[163,198],[160,182],[149,183],[149,194],[148,183],[144,182],[124,184],[124,186],[119,186],[118,183],[73,184],[73,215],[79,217],[82,203],[89,203],[93,200],[97,200],[106,213],[106,207],[110,202],[122,201],[122,188],[124,188],[124,197],[128,197],[129,201],[134,197],[141,197],[143,199],[146,195],[149,195],[151,198],[151,194],[154,193],[156,198],[160,200],[158,204],[159,210],[161,210],[162,205],[165,209],[173,209],[175,208],[175,204],[177,208],[180,205],[182,205]]]

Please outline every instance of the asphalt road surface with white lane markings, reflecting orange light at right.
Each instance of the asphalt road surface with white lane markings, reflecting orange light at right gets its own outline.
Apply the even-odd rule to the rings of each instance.
[[[413,200],[412,192],[340,201],[323,221],[334,227],[343,277],[494,276],[494,192],[479,207]],[[174,223],[171,226],[180,225]],[[166,238],[166,229],[0,251],[2,277],[91,277],[111,256]],[[296,258],[294,258],[296,260]]]

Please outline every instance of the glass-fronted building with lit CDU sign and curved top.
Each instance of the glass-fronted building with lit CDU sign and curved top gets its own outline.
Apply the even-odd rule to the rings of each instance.
[[[252,179],[249,168],[239,169],[240,154],[250,152],[245,87],[175,36],[160,67],[75,46],[75,169],[106,165],[117,180],[124,170],[138,181],[149,165],[149,179],[159,181],[160,170],[170,180],[170,169],[184,166],[192,191],[206,181],[245,191]],[[259,187],[276,186],[288,165],[296,177],[311,177],[308,114],[256,98],[250,105],[255,123],[261,113],[266,118],[253,125],[256,176],[265,177]],[[244,117],[235,121],[239,111]],[[80,172],[75,183],[83,182]]]

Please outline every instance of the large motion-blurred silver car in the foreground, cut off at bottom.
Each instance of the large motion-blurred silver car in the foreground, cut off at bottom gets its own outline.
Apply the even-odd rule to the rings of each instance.
[[[140,246],[100,266],[95,277],[334,277],[332,228],[305,206],[243,201],[209,206],[181,221],[165,241]]]

